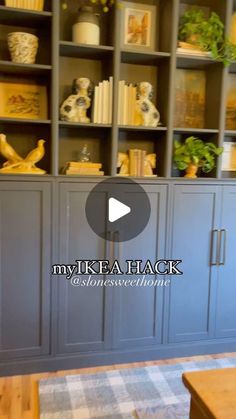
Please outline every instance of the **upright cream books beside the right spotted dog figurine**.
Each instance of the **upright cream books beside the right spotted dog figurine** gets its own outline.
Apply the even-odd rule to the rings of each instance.
[[[135,125],[137,87],[119,82],[118,91],[118,125]]]

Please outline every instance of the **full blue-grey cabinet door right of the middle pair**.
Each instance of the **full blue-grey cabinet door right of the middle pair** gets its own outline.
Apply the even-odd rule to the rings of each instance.
[[[207,339],[214,333],[217,268],[210,259],[212,231],[220,224],[220,191],[207,185],[174,188],[171,258],[182,259],[183,275],[171,280],[170,342]],[[213,246],[214,256],[215,251]]]

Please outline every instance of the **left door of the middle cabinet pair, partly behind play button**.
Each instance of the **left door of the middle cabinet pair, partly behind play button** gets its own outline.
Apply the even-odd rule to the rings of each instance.
[[[60,263],[76,260],[106,259],[106,242],[88,225],[85,205],[94,185],[65,183],[60,185]],[[106,199],[101,192],[98,199]],[[103,196],[104,195],[104,196]],[[94,208],[96,217],[96,208]],[[106,220],[104,226],[106,228]],[[105,230],[104,230],[105,231]],[[83,275],[82,279],[88,279]],[[103,279],[93,276],[93,279]],[[60,353],[102,350],[110,346],[110,292],[101,286],[76,287],[58,278]]]

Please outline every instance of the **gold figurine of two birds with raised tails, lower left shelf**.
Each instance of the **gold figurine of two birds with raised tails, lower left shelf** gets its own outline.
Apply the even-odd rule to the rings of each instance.
[[[30,151],[26,158],[23,159],[16,153],[14,148],[8,144],[6,136],[0,134],[0,154],[7,159],[0,169],[0,173],[45,174],[45,170],[36,167],[36,163],[38,163],[45,154],[44,143],[44,140],[39,140],[37,148]]]

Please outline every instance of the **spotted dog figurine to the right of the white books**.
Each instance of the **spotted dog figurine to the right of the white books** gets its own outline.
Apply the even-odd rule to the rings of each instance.
[[[160,113],[152,103],[153,87],[148,82],[137,85],[137,100],[135,109],[135,125],[144,127],[157,127],[160,122]]]

